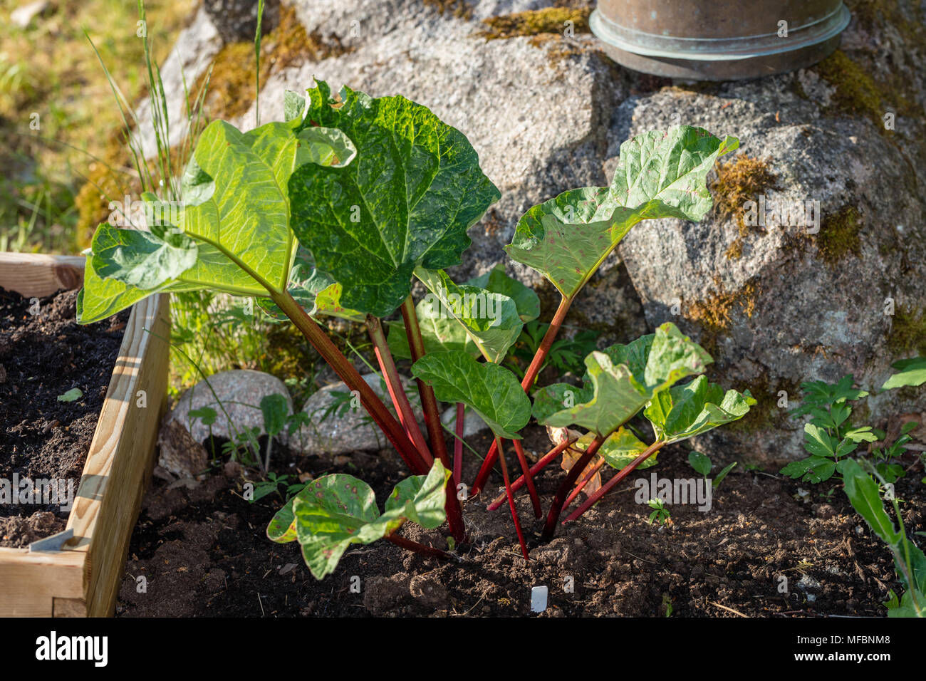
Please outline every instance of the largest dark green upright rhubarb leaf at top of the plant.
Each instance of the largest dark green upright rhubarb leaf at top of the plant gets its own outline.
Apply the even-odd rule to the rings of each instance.
[[[416,267],[460,263],[467,229],[499,197],[467,138],[402,96],[349,88],[309,91],[304,126],[344,132],[357,147],[346,168],[305,165],[290,180],[294,233],[321,271],[344,284],[344,307],[391,314]]]

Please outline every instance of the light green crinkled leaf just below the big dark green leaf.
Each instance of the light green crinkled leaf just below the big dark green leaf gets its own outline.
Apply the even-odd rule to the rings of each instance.
[[[428,287],[425,299],[432,300],[439,317],[460,323],[485,359],[494,364],[505,359],[524,326],[512,298],[479,286],[454,284],[443,270],[419,268],[415,275]]]

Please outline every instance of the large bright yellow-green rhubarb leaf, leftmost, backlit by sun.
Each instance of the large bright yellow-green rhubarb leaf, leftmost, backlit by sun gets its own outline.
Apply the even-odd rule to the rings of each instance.
[[[282,291],[297,245],[289,229],[290,175],[306,164],[344,166],[356,155],[344,132],[303,130],[301,123],[250,132],[222,120],[206,126],[181,178],[179,225],[154,223],[150,232],[98,228],[79,320],[93,322],[103,311],[164,290]],[[162,206],[154,195],[144,198]]]

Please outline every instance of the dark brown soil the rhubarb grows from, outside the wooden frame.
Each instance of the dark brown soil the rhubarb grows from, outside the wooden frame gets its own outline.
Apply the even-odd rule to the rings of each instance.
[[[471,443],[482,451],[488,442]],[[526,448],[545,449],[539,429]],[[541,543],[529,498],[518,507],[532,561],[521,558],[507,510],[484,511],[492,491],[465,505],[471,546],[459,560],[422,558],[381,541],[349,549],[337,571],[318,582],[298,545],[265,536],[282,504],[273,496],[242,498],[244,474],[190,481],[156,480],[131,540],[117,614],[123,616],[517,616],[530,612],[532,586],[549,588],[546,616],[883,616],[897,588],[891,556],[857,516],[841,488],[804,486],[737,466],[710,511],[668,506],[671,524],[647,523],[634,501],[633,479],[696,477],[687,451],[667,449],[656,467],[632,474],[578,522],[560,525]],[[514,457],[509,465],[517,466]],[[278,472],[297,476],[352,473],[382,503],[401,463],[388,452],[331,460],[277,458]],[[912,460],[910,461],[912,462]],[[469,455],[465,478],[476,472]],[[715,461],[717,472],[724,461]],[[546,505],[563,473],[538,479]],[[898,483],[907,532],[923,529],[921,471]],[[252,478],[254,479],[254,478]],[[500,484],[500,480],[496,480]],[[820,498],[835,487],[832,498]],[[407,525],[405,536],[445,548],[438,531]],[[141,579],[144,577],[144,580]],[[140,586],[141,585],[141,586]],[[572,590],[568,590],[568,586]]]

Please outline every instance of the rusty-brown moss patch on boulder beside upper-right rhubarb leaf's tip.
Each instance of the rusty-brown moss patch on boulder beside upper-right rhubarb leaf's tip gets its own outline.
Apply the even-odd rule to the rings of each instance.
[[[757,201],[759,195],[776,186],[777,176],[769,166],[769,159],[740,155],[718,166],[717,177],[710,184],[714,214],[720,220],[735,218],[739,228],[739,236],[727,248],[728,259],[743,256],[743,243],[749,233],[744,218],[745,203]]]

